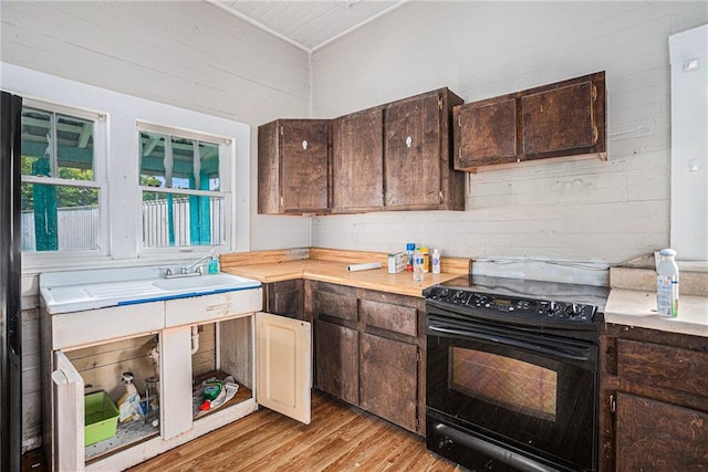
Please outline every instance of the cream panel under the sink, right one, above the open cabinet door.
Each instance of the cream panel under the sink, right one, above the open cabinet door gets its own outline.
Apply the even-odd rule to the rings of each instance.
[[[165,326],[173,327],[219,321],[260,312],[262,307],[262,289],[168,300],[165,302]]]

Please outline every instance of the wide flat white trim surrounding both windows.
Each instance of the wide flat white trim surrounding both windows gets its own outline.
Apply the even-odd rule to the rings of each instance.
[[[19,65],[0,61],[2,70],[2,88],[22,96],[23,103],[31,99],[41,103],[61,104],[71,109],[92,112],[100,109],[105,114],[105,136],[94,136],[94,145],[98,139],[105,140],[105,161],[97,164],[96,181],[105,185],[106,195],[102,195],[102,204],[107,204],[102,228],[104,230],[105,255],[61,253],[42,251],[40,253],[22,253],[22,273],[33,274],[54,270],[123,268],[136,265],[183,264],[196,262],[197,249],[170,248],[171,251],[140,251],[142,234],[135,214],[137,200],[140,198],[139,162],[135,160],[137,143],[136,123],[159,123],[163,126],[183,130],[199,130],[202,134],[225,136],[232,144],[225,156],[223,174],[220,177],[223,186],[230,186],[233,204],[229,214],[230,227],[227,228],[230,247],[222,252],[246,252],[250,250],[251,212],[254,211],[254,197],[251,196],[251,139],[250,125],[227,117],[208,115],[153,102],[133,95],[96,87],[93,85],[69,81],[44,74]],[[97,113],[97,112],[92,112]],[[97,132],[96,132],[97,133]],[[102,176],[101,176],[102,172]],[[101,177],[100,177],[101,176]],[[226,188],[226,187],[225,187]],[[209,251],[210,247],[201,247]]]

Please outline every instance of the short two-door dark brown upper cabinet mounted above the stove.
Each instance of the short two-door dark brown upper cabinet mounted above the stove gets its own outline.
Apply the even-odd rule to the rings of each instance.
[[[455,168],[598,155],[606,159],[605,73],[455,107]]]

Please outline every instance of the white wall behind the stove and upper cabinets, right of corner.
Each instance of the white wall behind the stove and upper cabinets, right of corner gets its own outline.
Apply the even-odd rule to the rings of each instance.
[[[314,54],[314,115],[448,86],[475,102],[606,71],[608,161],[469,175],[465,212],[321,217],[313,245],[618,263],[669,243],[669,34],[706,2],[413,1]]]

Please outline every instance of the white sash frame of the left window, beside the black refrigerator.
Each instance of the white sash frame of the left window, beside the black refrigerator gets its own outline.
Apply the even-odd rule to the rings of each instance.
[[[93,180],[67,180],[58,177],[37,177],[23,175],[22,183],[43,183],[52,186],[72,186],[95,188],[98,190],[98,240],[97,248],[91,250],[56,250],[56,251],[22,251],[23,262],[30,266],[62,264],[67,261],[86,261],[110,255],[108,249],[108,188],[107,188],[107,114],[60,105],[53,102],[23,97],[23,108],[35,108],[65,116],[77,117],[93,122]],[[54,171],[56,169],[53,169]]]

